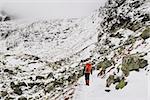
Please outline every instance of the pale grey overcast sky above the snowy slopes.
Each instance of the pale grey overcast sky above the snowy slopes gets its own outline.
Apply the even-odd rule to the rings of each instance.
[[[0,9],[20,18],[79,18],[106,0],[0,0]]]

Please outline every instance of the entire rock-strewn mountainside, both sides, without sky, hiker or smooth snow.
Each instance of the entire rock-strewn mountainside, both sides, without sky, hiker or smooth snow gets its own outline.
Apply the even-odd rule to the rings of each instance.
[[[0,99],[71,99],[87,61],[124,88],[150,69],[149,11],[149,0],[108,0],[81,19],[0,22]]]

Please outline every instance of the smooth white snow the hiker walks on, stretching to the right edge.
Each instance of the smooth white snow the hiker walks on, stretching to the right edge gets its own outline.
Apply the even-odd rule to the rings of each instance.
[[[133,72],[123,90],[111,86],[110,92],[105,92],[105,80],[97,77],[97,73],[91,75],[90,86],[85,85],[84,77],[79,79],[73,100],[148,100],[148,76],[144,72]]]

